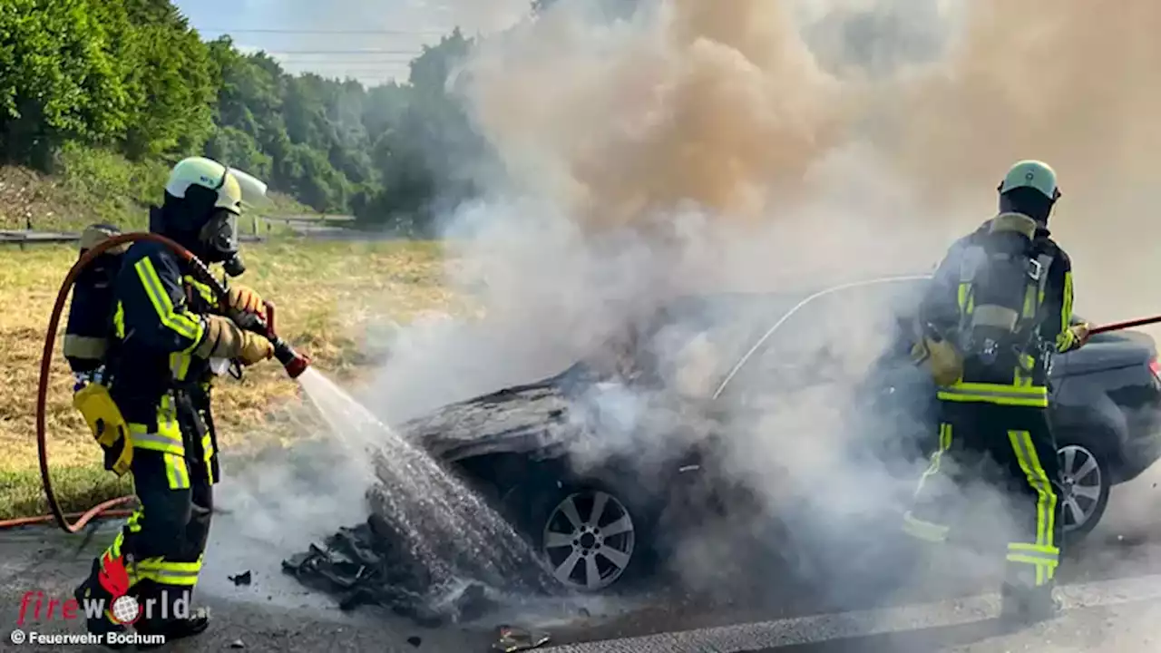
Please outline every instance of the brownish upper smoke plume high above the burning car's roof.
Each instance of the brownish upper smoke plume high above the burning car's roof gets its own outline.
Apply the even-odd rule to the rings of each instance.
[[[641,227],[687,201],[730,247],[738,230],[760,235],[771,274],[816,273],[824,253],[839,277],[926,268],[990,215],[1009,164],[1041,158],[1065,192],[1054,231],[1094,297],[1081,306],[1131,313],[1110,290],[1153,272],[1146,252],[1126,260],[1122,235],[1161,235],[1145,215],[1161,181],[1156,2],[672,0],[616,26],[583,6],[562,0],[469,65],[481,130],[577,224]],[[801,24],[802,7],[823,20]],[[868,15],[897,29],[857,35]],[[929,62],[872,76],[851,60],[937,29],[950,37]]]

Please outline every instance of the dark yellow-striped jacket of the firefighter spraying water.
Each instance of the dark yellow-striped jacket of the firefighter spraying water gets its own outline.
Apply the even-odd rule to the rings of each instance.
[[[168,247],[143,241],[124,254],[114,282],[109,393],[135,449],[203,458],[218,479],[209,361],[193,354],[214,294]]]

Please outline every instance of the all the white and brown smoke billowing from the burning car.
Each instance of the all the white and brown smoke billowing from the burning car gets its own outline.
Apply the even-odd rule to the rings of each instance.
[[[374,407],[398,422],[553,374],[611,338],[647,333],[684,295],[801,299],[924,272],[990,217],[1000,177],[1021,158],[1060,175],[1052,227],[1073,257],[1082,315],[1155,311],[1122,288],[1154,272],[1126,249],[1156,236],[1142,215],[1161,175],[1151,160],[1161,91],[1148,84],[1159,29],[1161,7],[1147,0],[1116,10],[669,0],[627,20],[561,0],[484,38],[448,80],[495,155],[485,195],[447,216],[448,284],[483,316],[403,329]],[[675,552],[688,586],[720,584],[727,560],[750,561],[747,543],[757,558],[773,544],[830,598],[887,587],[867,569],[908,583],[915,552],[893,533],[922,464],[893,444],[906,424],[858,403],[893,328],[884,293],[809,304],[731,381],[713,423],[729,433],[719,464],[759,517],[688,534]],[[583,395],[575,418],[601,437],[574,464],[629,457],[652,468],[700,442],[713,429],[695,409],[713,379],[793,303],[769,315],[707,308],[699,318],[716,329],[692,346],[672,331],[637,342],[664,371],[659,389],[622,374]],[[993,490],[968,485],[960,496],[974,530],[1012,532]],[[956,571],[987,575],[1000,558],[959,558]]]

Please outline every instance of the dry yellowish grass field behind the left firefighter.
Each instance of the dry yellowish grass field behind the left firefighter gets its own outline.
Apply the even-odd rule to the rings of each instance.
[[[44,332],[60,281],[75,260],[72,247],[0,250],[0,518],[46,511],[36,457],[36,385]],[[432,310],[459,311],[441,286],[438,243],[269,242],[244,247],[244,279],[277,304],[277,330],[310,353],[316,366],[351,376],[373,364],[363,329],[378,318],[405,323]],[[63,331],[64,320],[62,320]],[[127,494],[129,486],[101,467],[101,452],[71,406],[71,376],[58,335],[48,395],[46,425],[53,489],[66,510]],[[215,396],[221,445],[260,446],[255,432],[272,411],[297,402],[297,386],[274,364],[255,366],[241,381],[225,378]],[[268,437],[277,437],[269,435]]]

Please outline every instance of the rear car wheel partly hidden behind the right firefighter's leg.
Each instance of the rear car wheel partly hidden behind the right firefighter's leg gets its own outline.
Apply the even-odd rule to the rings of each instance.
[[[1066,440],[1059,445],[1058,458],[1065,538],[1076,541],[1104,515],[1112,476],[1106,457],[1096,446]]]

